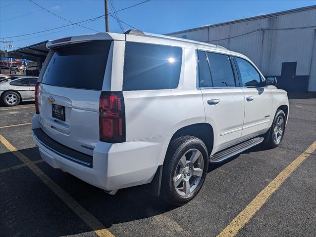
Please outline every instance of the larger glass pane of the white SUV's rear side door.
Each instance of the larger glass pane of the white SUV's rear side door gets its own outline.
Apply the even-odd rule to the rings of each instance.
[[[213,86],[236,86],[233,69],[228,55],[207,52]]]

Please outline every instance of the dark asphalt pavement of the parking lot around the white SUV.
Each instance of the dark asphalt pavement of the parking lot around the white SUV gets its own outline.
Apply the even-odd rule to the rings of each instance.
[[[289,97],[290,117],[282,144],[271,150],[257,146],[212,165],[198,196],[181,207],[147,194],[141,186],[110,196],[53,169],[41,160],[32,140],[34,103],[0,107],[0,134],[7,141],[0,142],[0,236],[217,236],[316,141],[316,94]],[[12,153],[12,147],[18,152]],[[29,166],[18,157],[30,159]],[[44,176],[34,172],[38,168]],[[45,177],[52,182],[45,183]],[[64,193],[58,196],[52,187]],[[65,195],[70,199],[65,201]],[[76,212],[78,206],[81,214]],[[100,222],[106,232],[92,230],[87,219]],[[237,236],[316,236],[316,151],[289,175]]]

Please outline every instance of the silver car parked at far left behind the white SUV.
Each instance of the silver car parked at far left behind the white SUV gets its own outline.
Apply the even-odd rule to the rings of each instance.
[[[37,77],[14,77],[0,81],[0,100],[5,106],[15,106],[21,101],[34,100]]]

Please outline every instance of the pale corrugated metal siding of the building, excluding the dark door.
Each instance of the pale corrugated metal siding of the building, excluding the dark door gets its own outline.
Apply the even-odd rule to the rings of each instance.
[[[297,62],[296,75],[310,75],[315,28],[259,30],[232,39],[226,38],[261,28],[280,29],[315,25],[316,8],[312,8],[273,17],[210,26],[172,36],[182,38],[185,35],[190,40],[209,41],[245,54],[261,69],[264,75],[280,76],[283,62]]]

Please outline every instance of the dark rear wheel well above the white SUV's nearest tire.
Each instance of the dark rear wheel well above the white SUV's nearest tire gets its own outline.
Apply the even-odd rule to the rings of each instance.
[[[213,141],[214,141],[213,140],[214,133],[213,133],[213,128],[211,124],[196,123],[196,124],[191,124],[191,125],[182,127],[173,134],[171,141],[175,138],[186,136],[186,135],[194,136],[201,139],[206,145],[209,155],[211,154],[211,151],[213,149]]]

